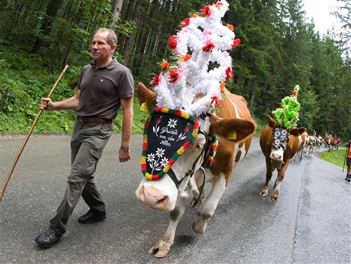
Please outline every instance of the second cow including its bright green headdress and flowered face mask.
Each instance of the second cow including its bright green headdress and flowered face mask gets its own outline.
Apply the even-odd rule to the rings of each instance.
[[[298,110],[300,110],[297,100],[299,89],[300,87],[296,85],[292,95],[282,99],[282,107],[273,112],[275,119],[267,115],[268,125],[263,129],[260,137],[260,146],[266,161],[266,181],[260,195],[267,196],[272,171],[277,169],[278,176],[271,195],[271,201],[274,203],[278,202],[280,184],[284,179],[290,158],[301,147],[301,134],[306,131],[306,128],[295,126],[299,116]]]

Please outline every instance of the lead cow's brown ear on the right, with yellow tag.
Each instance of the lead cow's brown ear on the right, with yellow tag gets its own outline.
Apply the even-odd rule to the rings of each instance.
[[[223,136],[230,141],[238,142],[252,136],[256,130],[254,121],[245,119],[213,119],[210,125],[210,134]]]

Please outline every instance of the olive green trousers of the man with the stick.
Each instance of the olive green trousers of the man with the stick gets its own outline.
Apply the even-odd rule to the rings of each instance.
[[[105,213],[105,204],[93,174],[112,130],[112,123],[101,125],[83,123],[78,119],[75,121],[71,136],[71,171],[67,178],[66,192],[56,216],[49,221],[49,228],[59,235],[66,231],[67,221],[81,196],[91,211]]]

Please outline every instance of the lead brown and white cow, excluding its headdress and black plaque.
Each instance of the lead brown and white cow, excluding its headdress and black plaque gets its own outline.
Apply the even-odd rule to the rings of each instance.
[[[138,84],[136,90],[140,104],[145,103],[147,110],[152,110],[156,106],[156,95],[147,89],[143,84]],[[208,219],[213,216],[217,204],[224,190],[226,189],[232,169],[236,163],[241,162],[250,147],[252,134],[256,130],[256,123],[251,118],[247,103],[243,97],[228,93],[223,97],[219,109],[206,120],[200,120],[200,130],[191,147],[179,156],[172,166],[172,171],[178,181],[182,180],[179,189],[172,176],[167,173],[160,180],[147,180],[143,178],[136,189],[136,197],[149,207],[160,211],[170,212],[169,226],[164,235],[152,248],[150,254],[162,258],[166,256],[173,245],[175,229],[178,221],[182,218],[185,211],[185,198],[179,193],[186,188],[193,193],[195,198],[199,197],[199,187],[204,182],[210,182],[212,188],[210,193],[202,200],[200,217],[193,223],[193,230],[202,234],[206,230]],[[228,135],[236,132],[236,139],[228,139]],[[210,168],[200,169],[202,165],[202,149],[206,145],[206,134],[218,136],[217,154]],[[186,178],[186,172],[195,168],[195,179]],[[205,175],[205,181],[204,181]]]

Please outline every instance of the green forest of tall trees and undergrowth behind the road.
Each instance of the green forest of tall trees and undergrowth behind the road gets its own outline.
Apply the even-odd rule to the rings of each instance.
[[[226,83],[243,95],[258,130],[266,116],[301,89],[299,126],[308,133],[351,137],[351,7],[338,0],[342,27],[320,36],[306,19],[302,0],[229,0],[223,18],[241,44],[231,51],[234,77]],[[66,64],[53,100],[75,94],[80,69],[88,64],[90,41],[99,27],[117,32],[114,54],[148,84],[160,62],[171,60],[168,38],[180,22],[213,1],[201,0],[0,0],[0,134],[26,134]],[[146,113],[134,104],[134,133]],[[70,133],[74,111],[44,112],[34,133]],[[114,121],[121,132],[121,121]]]

